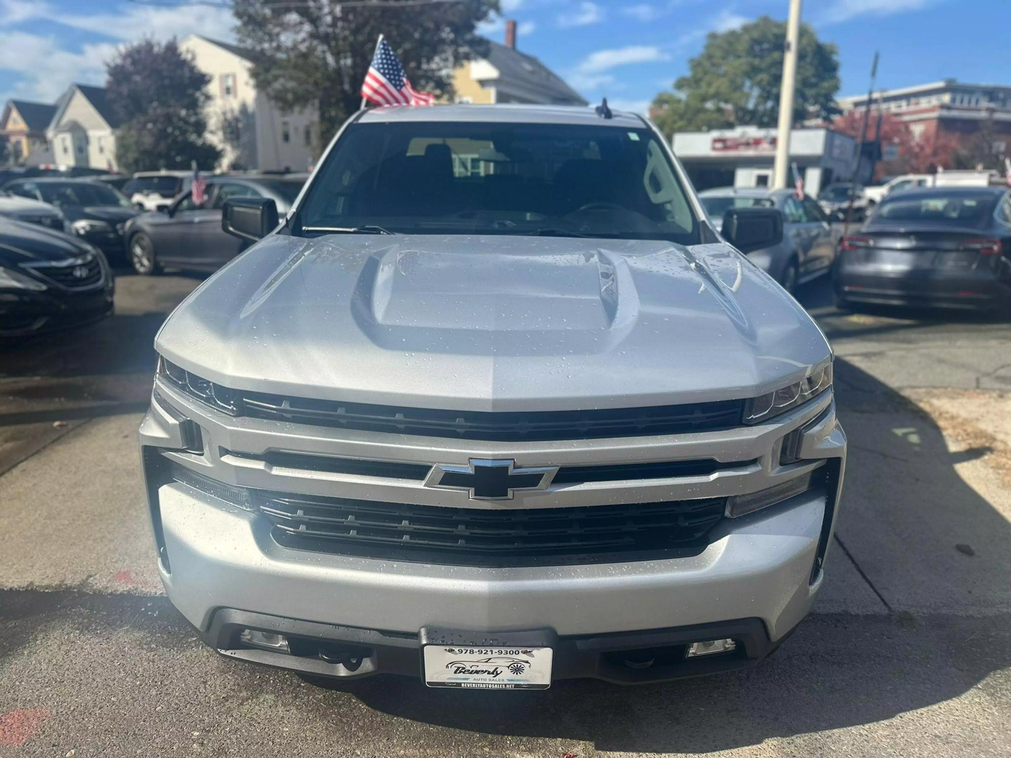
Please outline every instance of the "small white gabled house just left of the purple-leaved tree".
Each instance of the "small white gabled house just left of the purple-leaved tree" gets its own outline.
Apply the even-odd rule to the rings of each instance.
[[[56,113],[45,129],[53,162],[115,171],[118,125],[103,87],[72,84],[57,101]]]

